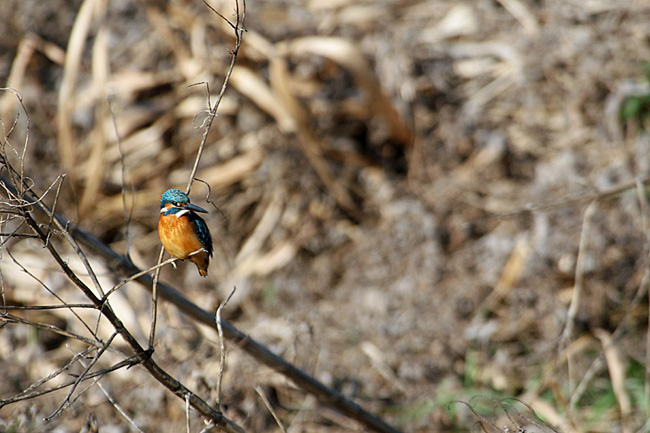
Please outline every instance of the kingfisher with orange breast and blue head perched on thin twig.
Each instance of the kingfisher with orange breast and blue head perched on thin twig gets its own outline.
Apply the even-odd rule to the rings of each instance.
[[[172,257],[189,260],[196,265],[202,277],[207,277],[212,257],[212,236],[208,225],[197,212],[209,213],[191,204],[183,191],[165,191],[160,200],[158,235]]]

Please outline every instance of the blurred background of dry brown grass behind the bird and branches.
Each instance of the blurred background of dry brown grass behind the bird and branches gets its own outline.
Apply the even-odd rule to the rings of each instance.
[[[211,210],[209,277],[182,263],[163,280],[211,311],[236,286],[226,319],[407,432],[476,431],[457,400],[486,431],[551,431],[532,410],[566,432],[647,431],[648,3],[246,6],[190,194]],[[2,15],[0,85],[29,114],[7,139],[20,107],[0,94],[4,149],[40,193],[60,186],[61,215],[153,266],[160,196],[187,186],[234,32],[195,0],[4,0]],[[80,300],[35,242],[2,249],[3,303],[54,303],[43,285]],[[112,304],[146,341],[148,292]],[[156,360],[214,398],[215,335],[160,308]],[[83,333],[68,311],[38,314]],[[0,398],[79,347],[0,328]],[[144,371],[102,383],[143,430],[184,429],[184,403]],[[256,386],[289,431],[362,430],[229,347],[224,413],[279,431]],[[3,407],[0,430],[130,431],[97,387],[43,422],[64,396]]]

